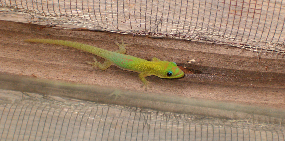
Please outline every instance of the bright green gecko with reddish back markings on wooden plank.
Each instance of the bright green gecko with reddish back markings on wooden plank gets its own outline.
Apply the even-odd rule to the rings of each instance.
[[[155,75],[160,78],[180,78],[184,76],[184,72],[179,69],[176,63],[174,62],[160,61],[156,57],[153,57],[151,61],[147,61],[145,59],[125,55],[125,53],[127,52],[125,47],[130,44],[124,44],[123,39],[122,44],[115,42],[115,44],[119,46],[119,50],[114,52],[72,41],[52,39],[27,39],[24,41],[74,47],[76,49],[87,51],[89,53],[102,57],[105,59],[105,62],[103,64],[98,62],[95,57],[93,58],[95,62],[91,63],[86,61],[86,63],[93,65],[92,68],[98,67],[101,70],[106,70],[111,65],[115,65],[123,70],[138,72],[139,78],[143,82],[141,87],[145,86],[145,90],[147,90],[148,87],[151,88],[151,85],[150,82],[147,81],[144,77]]]

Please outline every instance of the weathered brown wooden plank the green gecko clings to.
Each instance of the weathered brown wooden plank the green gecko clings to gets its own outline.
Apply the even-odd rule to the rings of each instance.
[[[127,54],[151,60],[174,61],[186,67],[180,79],[150,76],[148,92],[276,108],[285,107],[285,57],[260,56],[227,46],[176,39],[151,39],[108,32],[58,30],[41,25],[0,21],[0,72],[144,91],[138,73],[111,66],[94,70],[85,61],[94,55],[60,45],[26,43],[24,39],[60,39],[86,43],[110,51],[123,37],[131,43]],[[103,61],[97,57],[99,61]],[[190,64],[188,60],[195,59]],[[190,71],[189,71],[190,70]],[[193,71],[197,70],[197,71]],[[196,72],[196,73],[190,73]]]

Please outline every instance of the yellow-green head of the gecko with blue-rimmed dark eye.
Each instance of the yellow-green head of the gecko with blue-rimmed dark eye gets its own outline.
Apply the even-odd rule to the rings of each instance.
[[[174,62],[162,61],[163,71],[160,73],[160,78],[180,78],[184,76],[184,72],[179,69]]]

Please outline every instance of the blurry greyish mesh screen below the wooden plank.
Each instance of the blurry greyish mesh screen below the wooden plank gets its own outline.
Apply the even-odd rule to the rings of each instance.
[[[284,140],[284,125],[1,90],[0,140]],[[8,96],[8,97],[7,97]]]

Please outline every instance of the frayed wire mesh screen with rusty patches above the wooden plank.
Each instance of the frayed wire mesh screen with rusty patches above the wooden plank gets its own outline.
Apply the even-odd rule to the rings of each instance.
[[[0,0],[0,8],[30,22],[91,30],[207,41],[284,55],[283,1]]]

